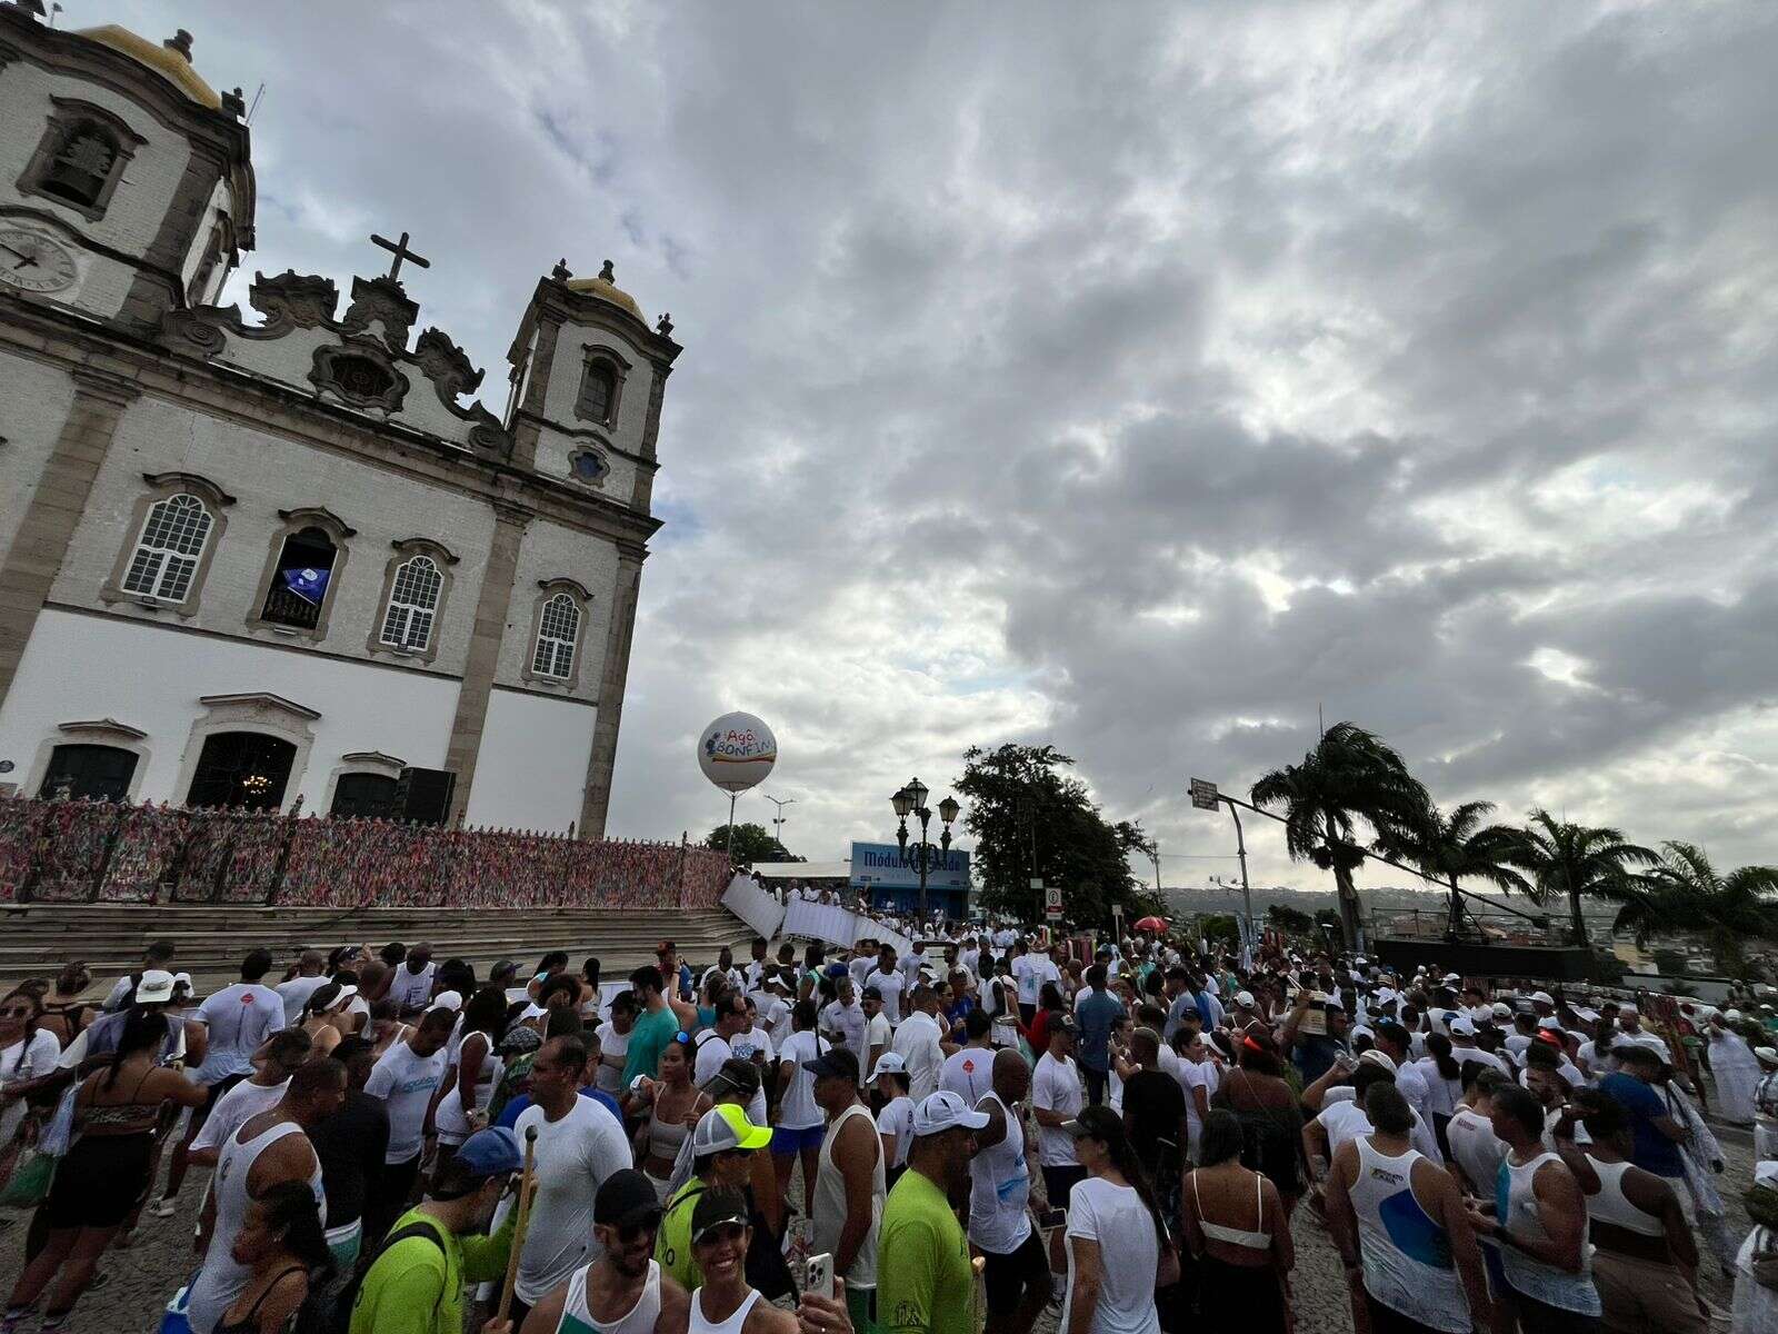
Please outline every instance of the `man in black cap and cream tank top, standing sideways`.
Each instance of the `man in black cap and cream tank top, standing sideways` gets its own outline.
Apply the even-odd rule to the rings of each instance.
[[[852,1323],[868,1330],[877,1298],[877,1236],[889,1193],[884,1145],[877,1121],[859,1101],[857,1057],[832,1048],[805,1060],[804,1069],[814,1076],[814,1101],[827,1113],[827,1138],[816,1158],[809,1250],[834,1258],[834,1274],[846,1282]]]

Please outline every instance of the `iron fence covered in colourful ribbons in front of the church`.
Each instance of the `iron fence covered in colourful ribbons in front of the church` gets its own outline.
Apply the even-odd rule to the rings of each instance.
[[[0,799],[0,902],[709,909],[727,882],[683,841]]]

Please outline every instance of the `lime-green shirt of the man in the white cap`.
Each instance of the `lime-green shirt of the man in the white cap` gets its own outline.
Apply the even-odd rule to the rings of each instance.
[[[969,1240],[944,1192],[912,1169],[884,1202],[877,1323],[898,1334],[974,1334]]]

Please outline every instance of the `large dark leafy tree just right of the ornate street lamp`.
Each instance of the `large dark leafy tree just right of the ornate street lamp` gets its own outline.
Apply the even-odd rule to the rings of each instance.
[[[1042,918],[1042,895],[1031,889],[1031,880],[1042,879],[1061,886],[1072,921],[1106,927],[1113,904],[1134,921],[1150,902],[1136,896],[1129,873],[1141,825],[1109,824],[1086,784],[1067,772],[1072,765],[1054,745],[973,745],[964,752],[964,774],[951,786],[967,808],[964,827],[974,840],[981,904]]]

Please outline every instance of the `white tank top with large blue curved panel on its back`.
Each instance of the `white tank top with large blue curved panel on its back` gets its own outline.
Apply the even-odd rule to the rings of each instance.
[[[1385,1154],[1358,1137],[1358,1179],[1351,1208],[1358,1215],[1358,1250],[1364,1288],[1390,1311],[1446,1334],[1469,1334],[1469,1298],[1451,1259],[1451,1236],[1414,1195],[1414,1163],[1422,1154],[1408,1149]]]

